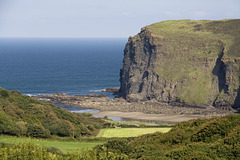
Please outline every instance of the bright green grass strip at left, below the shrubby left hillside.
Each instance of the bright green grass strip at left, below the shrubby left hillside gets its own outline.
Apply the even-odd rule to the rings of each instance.
[[[0,136],[0,142],[4,143],[32,142],[43,147],[58,148],[63,152],[63,154],[76,152],[80,153],[83,150],[91,149],[96,145],[101,145],[104,143],[104,142],[64,142],[44,139],[20,138],[12,136]]]

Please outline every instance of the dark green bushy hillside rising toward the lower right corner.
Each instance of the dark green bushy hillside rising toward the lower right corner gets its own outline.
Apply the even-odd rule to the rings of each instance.
[[[183,122],[168,133],[109,141],[93,152],[125,159],[239,159],[240,115]]]

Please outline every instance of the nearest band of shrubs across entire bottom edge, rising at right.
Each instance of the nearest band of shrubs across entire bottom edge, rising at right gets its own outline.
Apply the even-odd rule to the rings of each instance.
[[[198,119],[168,133],[121,138],[81,154],[61,155],[32,143],[2,145],[1,159],[239,159],[240,115]],[[24,157],[24,158],[22,158]]]

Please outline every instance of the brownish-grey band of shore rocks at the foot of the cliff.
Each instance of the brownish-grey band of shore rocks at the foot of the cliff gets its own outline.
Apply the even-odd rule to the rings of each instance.
[[[216,116],[224,116],[228,114],[233,114],[236,111],[233,109],[219,109],[213,106],[184,106],[184,105],[170,105],[167,103],[161,103],[158,101],[139,101],[139,102],[128,102],[123,98],[109,99],[104,94],[89,94],[86,96],[80,95],[66,95],[62,93],[52,94],[52,95],[38,95],[33,98],[50,102],[50,103],[62,103],[68,105],[79,106],[81,108],[97,109],[101,112],[109,112],[108,116],[111,116],[111,112],[138,112],[145,114],[146,119],[151,119],[152,117],[159,116],[162,122],[164,122],[164,116],[171,116],[173,122],[181,122],[184,120],[194,119],[194,118],[211,118]],[[124,114],[123,114],[124,115]],[[184,117],[185,119],[178,120],[178,116]],[[134,118],[129,116],[128,118]],[[135,117],[136,119],[136,117]],[[144,119],[144,118],[143,118]],[[167,119],[165,120],[167,122]]]

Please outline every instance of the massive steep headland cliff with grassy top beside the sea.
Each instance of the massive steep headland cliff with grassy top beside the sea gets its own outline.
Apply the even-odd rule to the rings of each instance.
[[[240,20],[171,20],[130,37],[120,96],[240,108]]]

